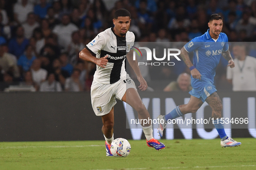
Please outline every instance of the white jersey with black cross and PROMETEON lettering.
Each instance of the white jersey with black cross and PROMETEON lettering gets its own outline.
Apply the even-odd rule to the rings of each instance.
[[[86,45],[95,57],[108,56],[106,68],[97,66],[94,81],[101,84],[113,84],[120,79],[126,79],[125,59],[126,53],[133,46],[135,36],[133,32],[127,31],[125,37],[120,37],[108,28],[100,32],[90,43]]]

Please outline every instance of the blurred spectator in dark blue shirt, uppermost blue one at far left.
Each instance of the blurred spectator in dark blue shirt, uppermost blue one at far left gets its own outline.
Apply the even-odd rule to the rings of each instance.
[[[12,38],[9,42],[9,51],[14,54],[17,58],[21,56],[26,46],[29,44],[29,40],[24,37],[24,28],[19,25],[16,28],[16,36]]]

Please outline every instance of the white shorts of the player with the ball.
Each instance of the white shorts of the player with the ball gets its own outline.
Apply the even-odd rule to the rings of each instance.
[[[110,112],[117,103],[116,99],[122,100],[128,88],[135,88],[133,80],[127,76],[126,80],[119,80],[113,84],[105,85],[93,82],[91,85],[91,105],[97,116],[103,116]]]

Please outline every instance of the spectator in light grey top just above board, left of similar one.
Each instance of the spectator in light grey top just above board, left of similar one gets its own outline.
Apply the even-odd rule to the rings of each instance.
[[[41,83],[39,91],[62,91],[61,84],[55,80],[54,73],[49,73],[47,81]]]

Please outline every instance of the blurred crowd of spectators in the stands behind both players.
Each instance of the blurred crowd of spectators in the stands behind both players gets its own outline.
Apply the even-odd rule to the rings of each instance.
[[[188,42],[207,31],[214,13],[223,16],[230,42],[256,41],[254,0],[0,0],[0,91],[10,85],[90,90],[96,66],[78,54],[99,32],[113,27],[113,13],[121,8],[131,13],[130,31],[137,42]],[[254,52],[248,55],[256,57]],[[183,72],[190,74],[183,62],[154,69],[146,69],[152,90],[163,90]],[[222,58],[218,89],[232,89],[226,69]]]

